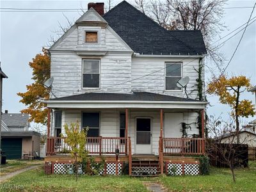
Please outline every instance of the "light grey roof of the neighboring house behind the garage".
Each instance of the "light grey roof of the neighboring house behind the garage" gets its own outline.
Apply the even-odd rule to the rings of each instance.
[[[3,113],[2,120],[8,127],[25,127],[29,115],[25,113]]]

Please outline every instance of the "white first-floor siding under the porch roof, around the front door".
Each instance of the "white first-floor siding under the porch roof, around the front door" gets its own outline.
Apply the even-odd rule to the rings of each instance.
[[[62,113],[62,125],[70,125],[70,123],[79,122],[82,124],[83,112],[99,112],[100,113],[100,136],[105,137],[119,137],[120,136],[120,113],[124,112],[122,109],[84,109],[84,110],[65,110]],[[172,111],[172,113],[178,113]],[[169,113],[169,111],[168,111]],[[198,134],[198,129],[195,127],[196,115],[194,112],[180,112],[183,113],[183,121],[191,124],[191,131],[188,134]],[[152,153],[158,154],[158,142],[160,136],[160,111],[157,109],[130,109],[128,121],[128,136],[131,137],[132,153],[135,152],[136,147],[136,117],[150,117],[152,119]],[[182,122],[180,122],[182,123]],[[52,127],[52,132],[54,127]],[[180,131],[180,127],[177,127]],[[61,130],[65,134],[64,128]]]

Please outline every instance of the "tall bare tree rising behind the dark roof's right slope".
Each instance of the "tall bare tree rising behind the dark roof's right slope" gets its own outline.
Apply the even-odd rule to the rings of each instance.
[[[201,30],[209,56],[220,69],[223,54],[211,42],[225,26],[221,22],[227,0],[136,0],[136,7],[168,30]]]

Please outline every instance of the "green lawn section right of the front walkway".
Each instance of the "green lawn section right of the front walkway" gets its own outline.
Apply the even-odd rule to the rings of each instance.
[[[236,183],[228,168],[211,168],[210,175],[158,177],[171,191],[256,191],[256,161],[249,168],[235,170]]]

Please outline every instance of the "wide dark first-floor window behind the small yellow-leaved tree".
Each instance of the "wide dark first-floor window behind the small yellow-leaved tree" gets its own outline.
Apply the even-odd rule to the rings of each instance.
[[[83,113],[83,129],[88,127],[88,137],[99,137],[100,114],[99,113]]]

